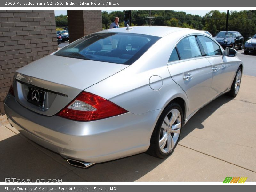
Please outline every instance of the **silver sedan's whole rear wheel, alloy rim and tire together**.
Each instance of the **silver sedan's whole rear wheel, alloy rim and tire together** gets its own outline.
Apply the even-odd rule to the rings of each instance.
[[[171,103],[159,117],[150,140],[149,155],[164,158],[169,156],[177,146],[183,125],[180,105]]]

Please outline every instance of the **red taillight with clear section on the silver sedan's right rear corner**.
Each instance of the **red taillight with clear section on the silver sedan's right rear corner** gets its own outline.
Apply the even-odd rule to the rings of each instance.
[[[93,121],[127,112],[111,101],[83,91],[57,115],[76,121]]]

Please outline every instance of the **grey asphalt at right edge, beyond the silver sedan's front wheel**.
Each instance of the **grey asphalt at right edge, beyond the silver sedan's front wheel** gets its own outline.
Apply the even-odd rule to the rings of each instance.
[[[244,63],[244,75],[256,76],[256,52],[244,54],[244,50],[237,51],[237,56]]]

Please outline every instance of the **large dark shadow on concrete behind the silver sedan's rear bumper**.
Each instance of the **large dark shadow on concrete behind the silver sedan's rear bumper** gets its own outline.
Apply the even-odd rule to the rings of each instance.
[[[9,132],[11,132],[8,129]],[[64,181],[135,181],[165,159],[141,153],[95,164],[87,169],[70,166],[59,154],[39,146],[21,134],[0,141],[0,181],[5,178],[62,179]]]

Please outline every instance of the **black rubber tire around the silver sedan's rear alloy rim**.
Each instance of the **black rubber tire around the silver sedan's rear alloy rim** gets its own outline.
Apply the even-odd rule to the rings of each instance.
[[[161,136],[161,134],[163,134],[161,132],[161,130],[163,130],[162,124],[164,124],[165,118],[168,115],[170,115],[171,111],[172,110],[177,111],[176,109],[180,112],[180,114],[178,115],[178,116],[180,116],[179,123],[181,123],[180,124],[181,125],[180,132],[179,132],[179,135],[175,135],[176,136],[175,137],[176,143],[174,144],[174,147],[172,147],[170,151],[164,153],[164,152],[162,152],[162,150],[160,149],[160,146],[159,146],[160,145],[159,144],[160,136]],[[173,114],[171,114],[170,119],[171,119],[172,115]],[[178,123],[176,122],[176,124],[178,124]],[[181,109],[180,105],[178,103],[174,103],[174,102],[170,103],[164,109],[164,111],[162,112],[162,114],[160,115],[160,117],[159,117],[159,119],[158,119],[158,121],[156,123],[155,129],[154,129],[154,131],[152,133],[152,136],[151,136],[151,139],[150,139],[150,146],[149,146],[149,148],[148,148],[146,153],[151,155],[151,156],[158,157],[158,158],[165,158],[165,157],[171,155],[173,153],[174,149],[176,148],[178,142],[179,142],[182,126],[183,126],[183,112],[182,112],[182,109]],[[169,129],[171,129],[170,126],[169,126]],[[169,134],[169,130],[166,133]],[[173,135],[172,137],[174,138],[174,134],[176,134],[176,133],[170,133],[170,136]],[[166,145],[167,145],[167,142],[168,141],[166,141]]]

